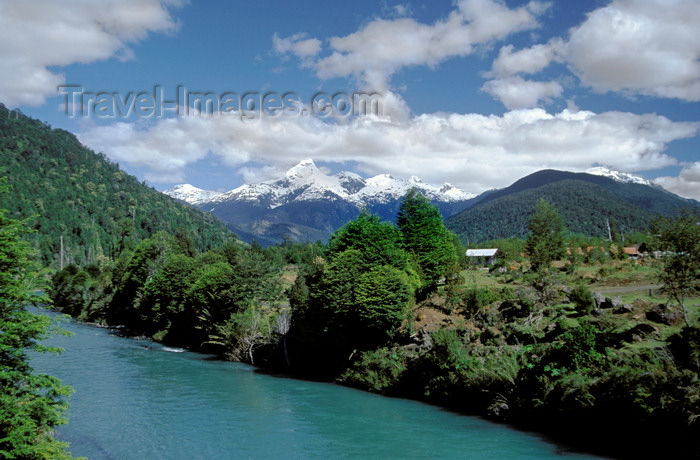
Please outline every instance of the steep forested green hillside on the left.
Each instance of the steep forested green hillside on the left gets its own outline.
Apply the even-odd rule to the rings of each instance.
[[[159,230],[199,249],[234,235],[216,217],[159,193],[61,129],[0,104],[0,168],[11,190],[10,217],[30,219],[29,236],[45,265],[95,263]]]

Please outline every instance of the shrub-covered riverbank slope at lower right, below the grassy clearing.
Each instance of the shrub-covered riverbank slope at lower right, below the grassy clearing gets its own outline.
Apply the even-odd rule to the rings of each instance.
[[[615,303],[602,297],[602,308],[581,314],[570,303],[526,311],[500,301],[467,317],[436,297],[416,309],[412,334],[353,356],[335,381],[598,455],[700,455],[700,331],[658,302]]]

